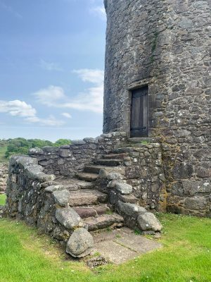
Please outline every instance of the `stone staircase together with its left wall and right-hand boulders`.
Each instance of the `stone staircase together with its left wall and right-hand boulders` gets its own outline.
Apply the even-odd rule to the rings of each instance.
[[[90,254],[94,247],[93,231],[127,226],[155,234],[162,228],[160,222],[137,204],[133,187],[128,184],[132,179],[128,173],[141,172],[138,162],[145,158],[148,161],[151,155],[143,153],[153,153],[157,145],[144,146],[140,142],[118,146],[84,166],[75,178],[46,174],[32,157],[12,157],[10,173],[15,173],[15,177],[9,178],[7,195],[13,196],[16,183],[19,202],[17,207],[17,202],[8,201],[8,212],[14,216],[15,209],[18,218],[36,224],[41,232],[61,241],[73,257]],[[153,157],[156,159],[155,154]],[[23,191],[23,182],[27,183],[28,192]]]

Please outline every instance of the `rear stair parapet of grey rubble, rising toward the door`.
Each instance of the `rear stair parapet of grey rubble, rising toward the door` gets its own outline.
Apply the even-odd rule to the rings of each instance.
[[[56,176],[75,176],[86,164],[110,152],[115,146],[126,142],[126,133],[103,134],[96,138],[73,140],[71,145],[30,149],[30,157],[38,159],[45,173]]]

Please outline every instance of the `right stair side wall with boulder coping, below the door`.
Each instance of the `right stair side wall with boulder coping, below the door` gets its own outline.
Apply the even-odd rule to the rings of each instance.
[[[143,234],[160,232],[162,225],[150,212],[166,210],[160,144],[127,147],[124,154],[122,166],[101,168],[98,189],[108,194],[110,205],[123,216],[125,226]]]

